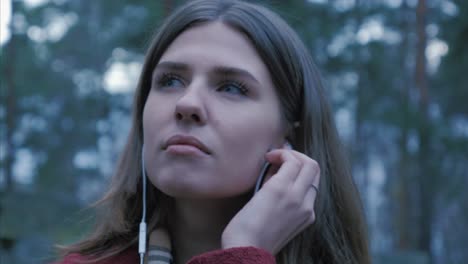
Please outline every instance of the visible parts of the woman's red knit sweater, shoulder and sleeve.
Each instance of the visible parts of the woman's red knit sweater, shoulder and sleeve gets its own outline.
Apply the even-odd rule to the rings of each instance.
[[[56,264],[78,264],[86,258],[79,254],[70,254]],[[121,254],[101,260],[95,264],[138,264],[138,252],[135,248]],[[275,258],[267,251],[255,247],[236,247],[210,251],[190,259],[187,264],[275,264]]]

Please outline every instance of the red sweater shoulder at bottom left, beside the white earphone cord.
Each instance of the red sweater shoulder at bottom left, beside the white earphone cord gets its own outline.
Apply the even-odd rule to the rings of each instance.
[[[55,262],[54,264],[133,264],[138,263],[138,252],[134,249],[127,249],[122,253],[105,258],[99,261],[90,262],[90,258],[88,256],[84,256],[81,254],[73,253],[65,256],[61,261]]]

